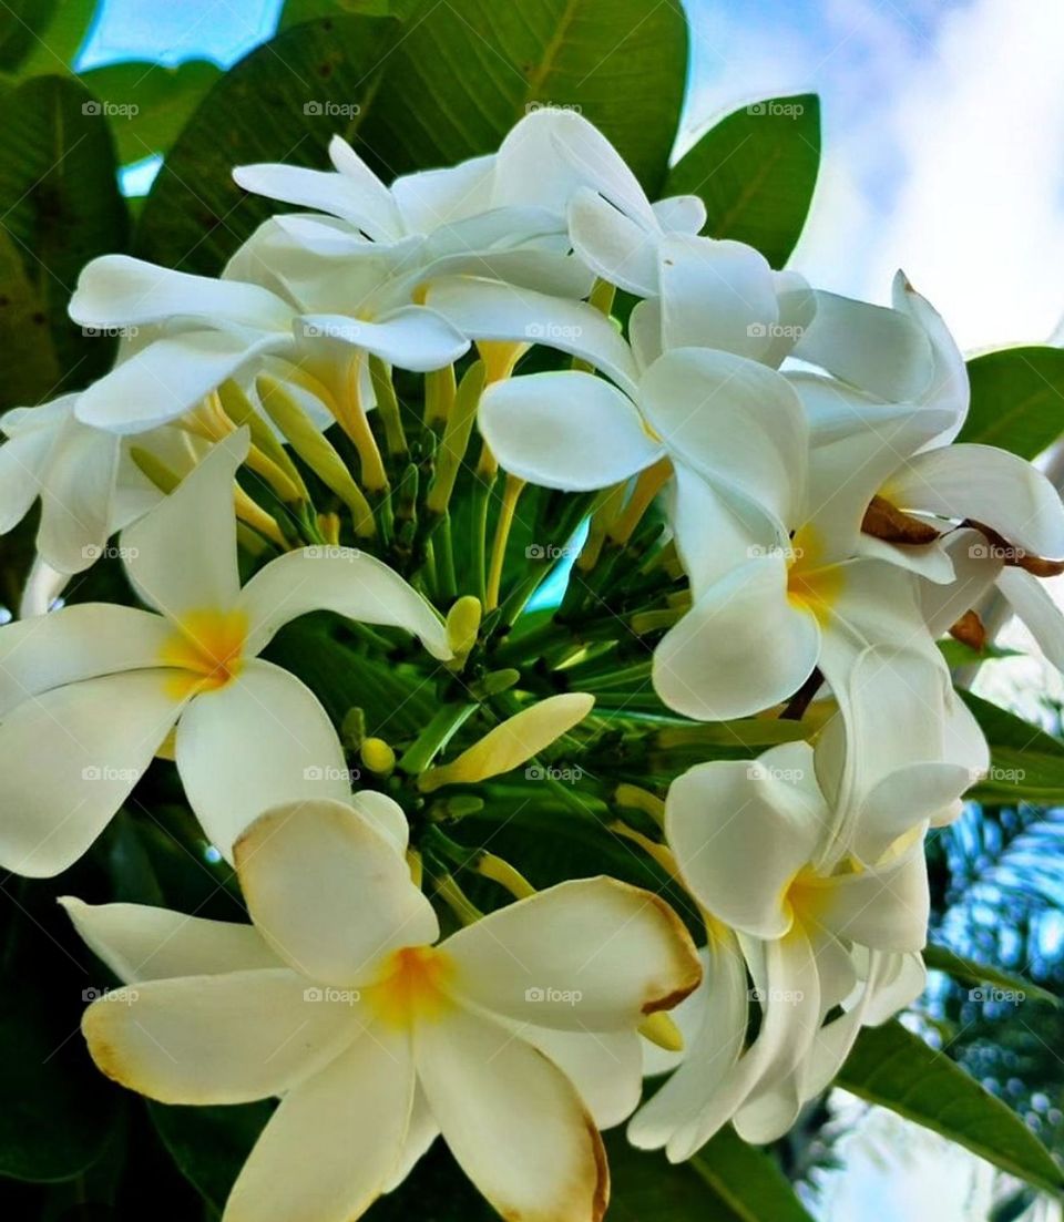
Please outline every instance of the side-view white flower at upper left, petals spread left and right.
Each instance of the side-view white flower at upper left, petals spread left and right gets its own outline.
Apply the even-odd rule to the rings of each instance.
[[[373,274],[379,280],[380,269]],[[272,371],[280,365],[281,374],[289,368],[297,385],[301,371],[309,374],[333,401],[345,403],[357,389],[364,353],[424,373],[468,347],[424,306],[367,307],[361,314],[355,308],[322,314],[322,308],[283,290],[279,280],[267,288],[122,254],[93,259],[78,279],[71,318],[137,327],[143,335],[111,373],[82,392],[77,415],[115,433],[139,433],[177,419],[227,379],[247,378],[264,364]]]

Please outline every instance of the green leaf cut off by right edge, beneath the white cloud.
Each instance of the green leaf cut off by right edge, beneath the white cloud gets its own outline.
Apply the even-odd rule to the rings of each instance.
[[[1003,348],[967,363],[971,407],[958,441],[1033,458],[1064,433],[1064,351]]]

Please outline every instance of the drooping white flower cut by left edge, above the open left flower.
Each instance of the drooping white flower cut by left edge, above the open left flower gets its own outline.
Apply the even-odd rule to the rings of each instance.
[[[37,549],[61,573],[79,573],[103,552],[115,522],[119,439],[75,417],[77,395],[0,418],[0,534],[40,499]]]

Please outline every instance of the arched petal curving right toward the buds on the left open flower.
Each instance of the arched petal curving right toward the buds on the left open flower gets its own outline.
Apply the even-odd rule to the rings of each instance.
[[[247,651],[308,611],[335,611],[360,623],[405,628],[443,661],[451,656],[446,629],[433,607],[394,568],[355,547],[303,547],[260,568],[245,585]]]

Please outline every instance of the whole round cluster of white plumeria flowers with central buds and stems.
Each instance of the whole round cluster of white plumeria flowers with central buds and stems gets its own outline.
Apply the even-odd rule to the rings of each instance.
[[[358,1217],[438,1135],[504,1217],[598,1220],[600,1128],[770,1141],[921,992],[925,840],[988,767],[939,642],[997,589],[1064,665],[1064,508],[955,441],[901,274],[872,306],[701,236],[572,111],[390,186],[329,156],[235,170],[279,208],[216,277],[91,263],[114,369],[0,422],[2,529],[40,501],[0,864],[67,869],[176,766],[249,923],[64,903],[137,986],[84,1015],[104,1073],[280,1100],[226,1222]],[[383,715],[270,659],[309,613]],[[530,805],[676,910],[615,855],[536,888],[483,831]]]

